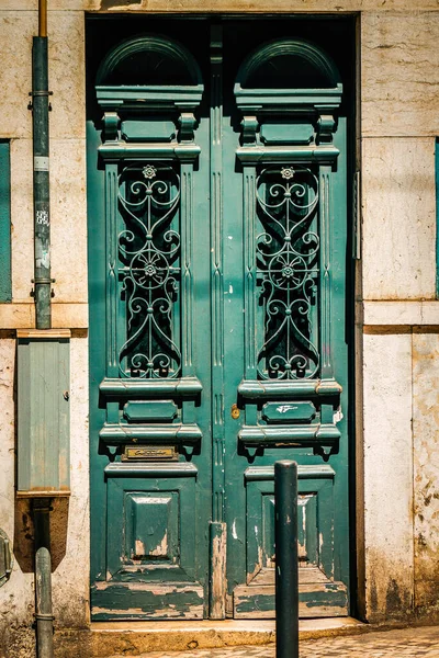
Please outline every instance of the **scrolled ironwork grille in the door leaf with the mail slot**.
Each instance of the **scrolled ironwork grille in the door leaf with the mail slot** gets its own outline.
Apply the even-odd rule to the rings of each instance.
[[[119,177],[119,279],[126,339],[124,377],[169,378],[181,370],[179,328],[180,175],[167,164],[125,167]]]

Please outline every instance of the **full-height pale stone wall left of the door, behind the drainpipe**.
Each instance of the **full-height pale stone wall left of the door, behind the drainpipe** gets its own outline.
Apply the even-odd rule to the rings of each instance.
[[[0,527],[14,544],[14,568],[0,589],[0,656],[32,656],[34,590],[32,515],[14,492],[14,367],[15,341],[5,329],[34,326],[32,211],[32,36],[35,11],[0,2],[0,138],[11,139],[11,219],[13,303],[0,305]],[[18,9],[18,5],[21,8]],[[34,9],[36,3],[30,3]],[[57,502],[53,525],[53,599],[56,623],[85,626],[88,622],[88,340],[87,215],[85,143],[85,16],[79,11],[49,12],[52,263],[53,326],[74,329],[71,339],[71,497]],[[79,329],[79,331],[78,331]]]

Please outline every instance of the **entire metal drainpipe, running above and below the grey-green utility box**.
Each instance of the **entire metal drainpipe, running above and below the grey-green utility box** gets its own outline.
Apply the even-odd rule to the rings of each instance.
[[[38,0],[38,36],[32,47],[34,156],[34,298],[37,329],[50,329],[50,208],[48,144],[47,1]],[[35,529],[35,620],[38,658],[54,657],[52,614],[50,498],[33,501]]]

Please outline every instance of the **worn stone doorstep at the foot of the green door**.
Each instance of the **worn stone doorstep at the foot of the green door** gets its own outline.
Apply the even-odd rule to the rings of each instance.
[[[370,628],[352,617],[302,620],[300,638],[353,635]],[[93,622],[83,631],[59,629],[55,650],[59,658],[109,658],[148,651],[184,651],[243,645],[268,645],[275,639],[274,620]]]

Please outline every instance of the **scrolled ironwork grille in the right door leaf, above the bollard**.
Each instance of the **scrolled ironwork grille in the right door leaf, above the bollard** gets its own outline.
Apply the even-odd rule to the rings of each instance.
[[[264,168],[256,182],[256,238],[263,344],[262,379],[318,376],[318,179],[308,168]]]

